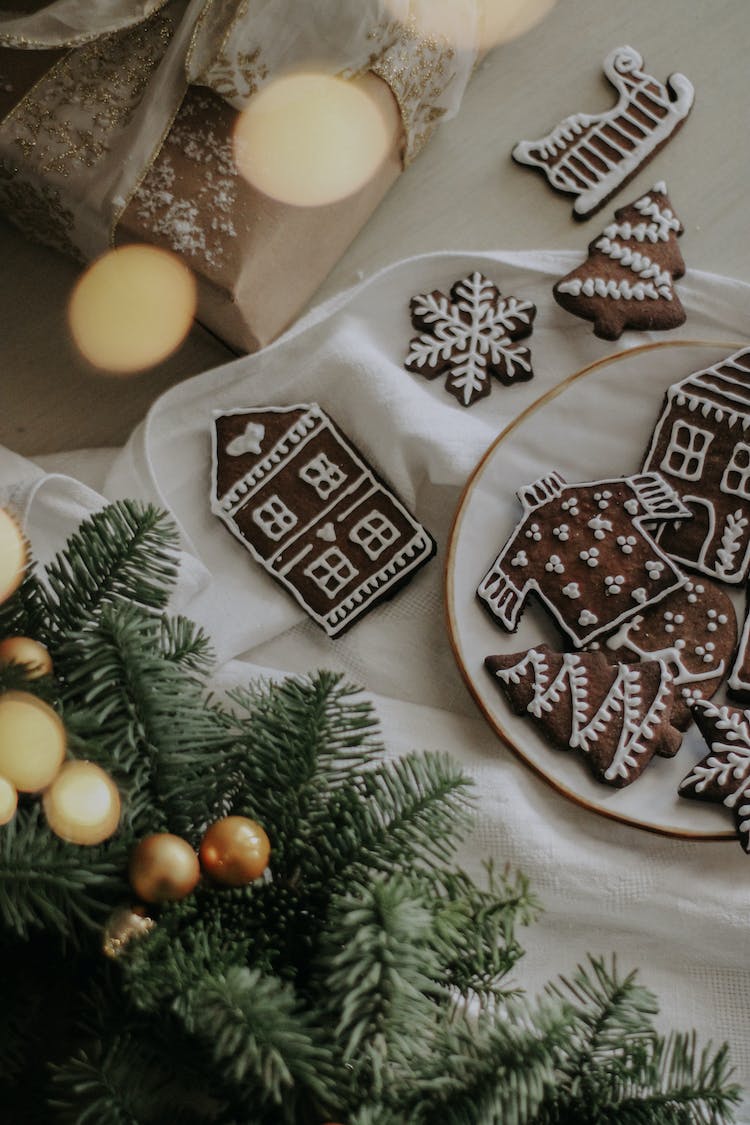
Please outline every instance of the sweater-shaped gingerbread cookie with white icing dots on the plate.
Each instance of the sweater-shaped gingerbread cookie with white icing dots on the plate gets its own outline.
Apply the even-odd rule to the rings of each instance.
[[[534,593],[584,648],[685,585],[644,526],[689,515],[658,472],[576,485],[551,472],[517,495],[521,522],[477,590],[508,632]]]

